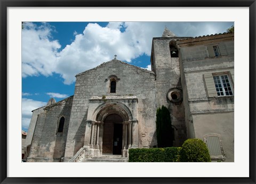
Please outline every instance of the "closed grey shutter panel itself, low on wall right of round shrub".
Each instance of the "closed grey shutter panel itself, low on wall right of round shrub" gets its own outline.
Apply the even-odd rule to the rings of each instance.
[[[209,149],[210,155],[222,155],[219,137],[216,137],[216,136],[207,137],[206,144]]]

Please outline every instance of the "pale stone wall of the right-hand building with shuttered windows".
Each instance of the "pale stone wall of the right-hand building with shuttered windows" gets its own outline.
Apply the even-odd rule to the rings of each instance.
[[[211,45],[219,56],[211,57]],[[218,134],[226,162],[234,162],[234,95],[209,96],[205,76],[228,75],[234,92],[234,35],[219,35],[178,42],[185,118],[189,138]],[[213,78],[212,78],[213,80]]]

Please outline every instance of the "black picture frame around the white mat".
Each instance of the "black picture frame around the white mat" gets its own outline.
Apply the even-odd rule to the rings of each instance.
[[[0,181],[1,183],[255,183],[255,0],[0,0]],[[7,177],[7,7],[249,7],[250,165],[248,178],[10,178]],[[242,169],[242,168],[241,168]]]

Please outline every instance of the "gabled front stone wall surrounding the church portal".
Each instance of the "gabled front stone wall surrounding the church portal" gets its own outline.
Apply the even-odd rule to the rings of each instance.
[[[116,78],[116,93],[110,93],[110,78]],[[75,155],[84,146],[84,132],[89,99],[92,97],[135,95],[138,98],[137,120],[139,147],[156,146],[155,75],[151,71],[111,60],[76,76],[75,94],[68,132],[65,157]],[[132,119],[131,119],[132,120]]]

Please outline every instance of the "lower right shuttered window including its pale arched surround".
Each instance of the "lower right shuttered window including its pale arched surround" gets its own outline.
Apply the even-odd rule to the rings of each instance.
[[[211,159],[222,159],[222,161],[225,161],[226,158],[222,146],[221,135],[217,133],[212,133],[204,135],[203,138],[207,148],[209,149]]]

